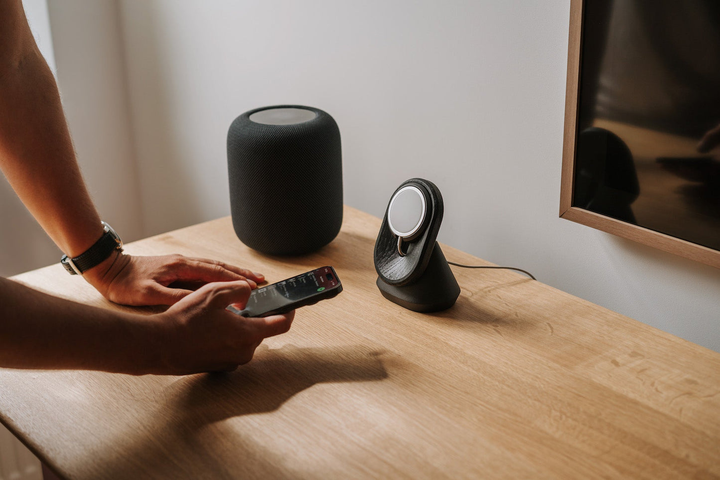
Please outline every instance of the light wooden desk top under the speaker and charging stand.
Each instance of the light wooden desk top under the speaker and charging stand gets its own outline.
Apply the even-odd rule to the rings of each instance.
[[[0,369],[0,419],[72,479],[720,476],[718,353],[505,270],[453,267],[453,308],[407,311],[374,284],[379,219],[345,215],[307,257],[253,252],[229,218],[128,245],[270,281],[331,264],[345,290],[231,374]],[[117,308],[60,265],[16,280]]]

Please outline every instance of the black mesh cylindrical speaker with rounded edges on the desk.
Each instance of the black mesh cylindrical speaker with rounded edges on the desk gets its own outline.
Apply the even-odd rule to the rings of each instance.
[[[343,223],[340,130],[323,110],[250,110],[228,130],[233,227],[266,254],[298,255],[333,241]]]

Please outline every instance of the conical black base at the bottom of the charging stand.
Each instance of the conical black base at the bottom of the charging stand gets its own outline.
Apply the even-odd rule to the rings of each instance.
[[[446,310],[460,295],[460,286],[438,242],[435,242],[428,267],[415,283],[395,287],[384,283],[380,277],[375,283],[384,298],[408,310],[423,313]]]

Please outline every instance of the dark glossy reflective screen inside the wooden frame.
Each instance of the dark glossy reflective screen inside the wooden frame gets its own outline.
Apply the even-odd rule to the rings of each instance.
[[[585,0],[573,205],[720,250],[720,1]]]

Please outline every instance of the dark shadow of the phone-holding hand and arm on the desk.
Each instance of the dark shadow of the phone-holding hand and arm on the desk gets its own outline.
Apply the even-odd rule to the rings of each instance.
[[[189,375],[169,384],[151,411],[142,412],[135,425],[101,452],[88,453],[81,462],[93,463],[93,478],[156,478],[153,472],[171,472],[172,478],[246,478],[264,471],[266,478],[286,478],[283,458],[264,451],[252,437],[226,425],[231,417],[274,412],[316,383],[378,381],[387,378],[382,352],[367,347],[300,348],[288,345],[270,350],[261,346],[256,357],[233,373]],[[257,420],[264,422],[264,420]],[[269,421],[269,420],[268,420]],[[230,429],[230,430],[228,430]],[[243,457],[238,466],[218,466],[213,453],[232,448]],[[262,451],[261,451],[262,450]],[[220,468],[220,470],[218,470]],[[235,470],[233,470],[235,468]],[[170,477],[168,477],[170,478]]]

